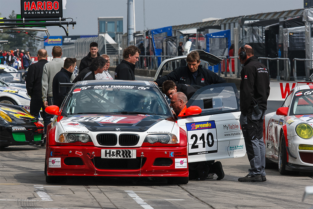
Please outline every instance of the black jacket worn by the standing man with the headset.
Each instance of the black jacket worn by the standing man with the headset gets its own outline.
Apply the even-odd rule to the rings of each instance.
[[[269,72],[265,65],[255,56],[250,57],[240,72],[240,111],[247,115],[248,109],[254,106],[252,97],[259,107],[266,110],[269,97]]]

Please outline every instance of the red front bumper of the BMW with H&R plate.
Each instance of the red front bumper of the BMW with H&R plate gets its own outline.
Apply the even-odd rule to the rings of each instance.
[[[139,147],[136,158],[101,158],[101,149],[94,146],[47,147],[49,176],[154,176],[188,177],[187,147]]]

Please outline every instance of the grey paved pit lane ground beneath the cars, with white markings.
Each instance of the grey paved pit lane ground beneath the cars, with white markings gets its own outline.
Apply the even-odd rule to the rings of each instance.
[[[305,174],[280,175],[266,169],[265,182],[239,182],[249,169],[247,156],[222,159],[223,180],[167,184],[163,178],[68,177],[48,184],[44,176],[45,148],[12,146],[0,150],[1,208],[310,208],[312,196],[302,202]]]

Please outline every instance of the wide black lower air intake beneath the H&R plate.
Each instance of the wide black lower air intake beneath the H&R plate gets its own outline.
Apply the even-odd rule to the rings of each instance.
[[[97,169],[107,170],[138,170],[146,162],[147,158],[141,157],[133,159],[107,159],[101,157],[94,157],[94,160],[90,160]]]

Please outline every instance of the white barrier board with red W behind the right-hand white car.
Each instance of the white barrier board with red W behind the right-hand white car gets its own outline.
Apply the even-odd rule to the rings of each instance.
[[[288,93],[296,86],[313,85],[313,82],[305,81],[270,81],[269,98],[268,101],[285,101]]]

